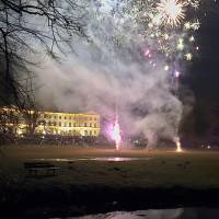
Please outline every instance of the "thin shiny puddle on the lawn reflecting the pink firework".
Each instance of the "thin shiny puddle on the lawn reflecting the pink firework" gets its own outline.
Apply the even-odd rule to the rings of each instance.
[[[69,161],[137,161],[137,160],[150,160],[151,158],[120,158],[120,157],[97,157],[97,158],[73,158],[73,159],[34,159],[37,161],[58,161],[58,162],[69,162]]]

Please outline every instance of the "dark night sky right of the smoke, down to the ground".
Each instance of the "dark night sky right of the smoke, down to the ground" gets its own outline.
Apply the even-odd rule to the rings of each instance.
[[[199,54],[182,80],[195,96],[193,111],[184,118],[184,130],[206,143],[219,145],[219,2],[203,2],[201,27],[196,36]]]

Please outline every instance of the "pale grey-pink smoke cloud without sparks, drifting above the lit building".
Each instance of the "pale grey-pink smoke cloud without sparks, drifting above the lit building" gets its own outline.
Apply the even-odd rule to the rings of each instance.
[[[74,53],[61,62],[44,61],[37,69],[37,99],[47,108],[94,111],[108,122],[117,114],[124,136],[143,135],[150,146],[174,139],[182,103],[171,92],[165,60],[157,55],[149,64],[140,26],[111,9],[91,2],[84,18],[89,41],[72,42]]]

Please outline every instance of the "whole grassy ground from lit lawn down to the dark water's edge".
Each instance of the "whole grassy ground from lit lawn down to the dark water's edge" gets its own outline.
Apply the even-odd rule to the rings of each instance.
[[[106,157],[139,160],[89,160]],[[23,164],[37,159],[58,166],[57,175],[30,177]],[[72,162],[69,164],[68,160]],[[1,148],[0,206],[10,208],[8,211],[12,214],[16,214],[14,209],[23,209],[25,214],[26,209],[32,209],[32,215],[26,218],[44,218],[48,209],[51,212],[47,215],[54,217],[57,208],[61,216],[68,216],[67,212],[84,215],[100,210],[139,209],[140,206],[146,209],[219,205],[218,195],[218,151],[176,153],[51,146]],[[68,211],[66,206],[73,206],[73,209]],[[22,218],[25,217],[22,215]]]

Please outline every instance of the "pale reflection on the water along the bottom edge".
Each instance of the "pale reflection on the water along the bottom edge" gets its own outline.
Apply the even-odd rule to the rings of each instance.
[[[114,211],[68,219],[219,219],[219,209],[177,208],[160,210]]]

